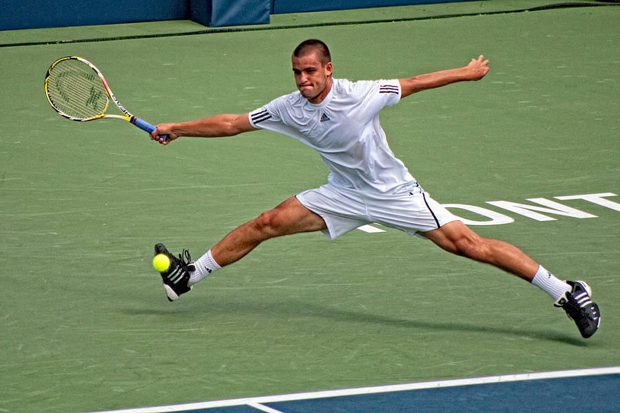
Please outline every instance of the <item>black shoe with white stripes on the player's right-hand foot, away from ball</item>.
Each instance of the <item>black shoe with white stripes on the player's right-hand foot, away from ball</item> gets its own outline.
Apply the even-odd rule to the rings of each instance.
[[[556,302],[556,307],[564,308],[568,317],[575,321],[581,337],[587,339],[592,336],[601,324],[599,306],[592,301],[592,289],[583,281],[567,281],[572,290],[564,293]]]

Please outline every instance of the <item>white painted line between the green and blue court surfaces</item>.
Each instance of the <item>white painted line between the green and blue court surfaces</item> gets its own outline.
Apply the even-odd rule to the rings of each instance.
[[[359,394],[402,392],[405,390],[447,388],[447,387],[455,387],[459,385],[507,383],[510,381],[526,381],[526,380],[541,380],[541,379],[560,379],[564,377],[597,376],[601,374],[620,374],[620,366],[586,368],[586,369],[579,369],[579,370],[560,370],[560,371],[555,371],[555,372],[505,374],[502,376],[473,377],[470,379],[423,381],[420,383],[379,385],[379,386],[366,387],[366,388],[324,390],[324,391],[319,391],[319,392],[280,394],[276,396],[247,397],[244,399],[204,401],[200,403],[187,403],[187,404],[181,404],[181,405],[169,405],[169,406],[162,406],[162,407],[139,407],[136,409],[109,410],[106,412],[96,412],[96,413],[170,413],[170,412],[182,412],[184,410],[209,409],[212,407],[229,407],[229,406],[238,406],[238,405],[250,405],[252,407],[255,407],[267,413],[281,413],[281,412],[278,412],[278,410],[271,409],[271,407],[262,405],[262,403],[274,403],[278,401],[296,401],[296,400],[307,400],[307,399],[322,399],[325,397],[336,397],[336,396],[356,396]],[[258,407],[259,405],[260,407]]]

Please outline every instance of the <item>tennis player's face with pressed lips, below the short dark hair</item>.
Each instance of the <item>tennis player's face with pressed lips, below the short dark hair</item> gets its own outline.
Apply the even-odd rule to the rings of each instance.
[[[297,88],[310,103],[321,103],[331,89],[331,62],[322,65],[316,52],[293,56],[293,73]]]

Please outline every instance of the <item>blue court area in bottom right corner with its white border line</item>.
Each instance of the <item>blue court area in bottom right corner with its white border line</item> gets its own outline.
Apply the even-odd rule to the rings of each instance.
[[[620,412],[620,367],[116,410],[115,413]],[[111,413],[111,412],[101,412]]]

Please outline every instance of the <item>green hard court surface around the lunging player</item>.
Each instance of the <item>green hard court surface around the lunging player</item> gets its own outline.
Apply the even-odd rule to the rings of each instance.
[[[619,19],[618,7],[561,8],[1,47],[0,412],[619,366]],[[13,43],[19,35],[0,32]],[[335,76],[351,80],[490,60],[482,81],[410,96],[382,111],[382,126],[433,198],[514,220],[475,231],[585,279],[601,308],[594,337],[581,339],[537,288],[390,229],[271,240],[165,299],[156,242],[197,258],[324,183],[327,169],[266,131],[163,147],[118,120],[71,122],[46,102],[45,70],[83,56],[136,116],[189,120],[292,92],[291,51],[309,37],[331,47]],[[554,198],[584,194],[603,195]],[[595,216],[538,211],[555,218],[541,221],[487,203],[542,207],[535,198]]]

